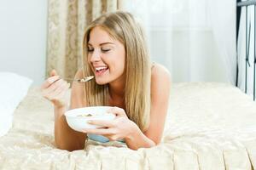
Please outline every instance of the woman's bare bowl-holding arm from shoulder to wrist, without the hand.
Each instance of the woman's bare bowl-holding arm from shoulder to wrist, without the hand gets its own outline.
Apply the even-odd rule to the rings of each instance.
[[[137,125],[125,139],[129,148],[137,150],[141,147],[152,147],[160,143],[165,127],[166,113],[169,104],[171,87],[170,73],[161,65],[155,65],[151,76],[151,111],[150,123],[146,132]]]

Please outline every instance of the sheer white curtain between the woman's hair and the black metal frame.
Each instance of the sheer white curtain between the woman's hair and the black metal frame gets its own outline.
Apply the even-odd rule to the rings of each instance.
[[[130,2],[130,1],[129,1]],[[173,82],[236,83],[236,2],[134,0],[124,8],[142,20],[152,60]]]

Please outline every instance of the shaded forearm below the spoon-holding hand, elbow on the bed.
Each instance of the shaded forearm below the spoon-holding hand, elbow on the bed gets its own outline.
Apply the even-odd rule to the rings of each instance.
[[[85,134],[68,126],[64,112],[66,108],[55,107],[55,144],[61,150],[84,149]]]

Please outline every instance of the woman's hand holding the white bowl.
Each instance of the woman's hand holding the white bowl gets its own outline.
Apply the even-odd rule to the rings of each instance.
[[[102,126],[96,129],[84,129],[84,133],[99,134],[107,137],[109,140],[127,139],[137,129],[137,124],[132,122],[123,109],[113,107],[108,111],[116,115],[112,121],[90,121],[92,125]]]

